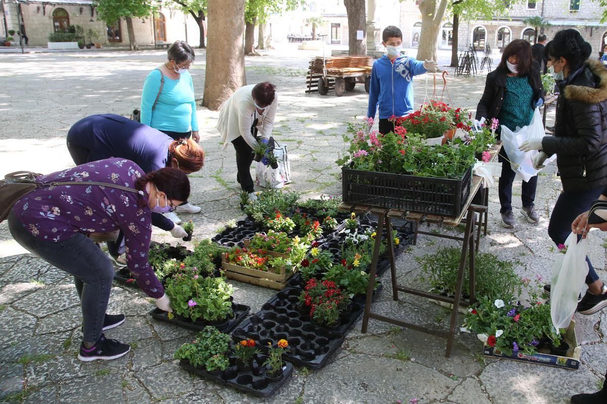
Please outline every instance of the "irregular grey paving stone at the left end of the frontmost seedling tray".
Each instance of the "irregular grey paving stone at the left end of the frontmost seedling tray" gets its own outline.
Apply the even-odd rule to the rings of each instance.
[[[164,362],[137,373],[137,378],[152,397],[162,399],[191,391],[194,388],[188,372],[177,365],[178,361]]]

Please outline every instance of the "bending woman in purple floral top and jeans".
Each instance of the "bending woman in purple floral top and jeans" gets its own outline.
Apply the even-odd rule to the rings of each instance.
[[[74,276],[83,311],[84,340],[78,359],[115,359],[130,346],[107,340],[103,331],[124,322],[106,314],[114,266],[87,237],[93,232],[124,233],[129,270],[159,308],[172,311],[164,288],[148,263],[152,212],[168,212],[188,198],[188,177],[163,168],[147,175],[130,160],[109,158],[42,175],[40,183],[77,181],[82,185],[41,187],[21,198],[8,216],[15,240],[32,254]],[[132,188],[86,185],[89,181]]]

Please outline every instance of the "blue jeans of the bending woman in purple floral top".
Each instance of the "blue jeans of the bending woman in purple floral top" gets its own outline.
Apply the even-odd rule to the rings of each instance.
[[[58,243],[36,238],[12,210],[8,214],[8,229],[27,251],[74,276],[82,308],[84,342],[97,342],[103,332],[114,280],[114,266],[107,255],[82,233]]]

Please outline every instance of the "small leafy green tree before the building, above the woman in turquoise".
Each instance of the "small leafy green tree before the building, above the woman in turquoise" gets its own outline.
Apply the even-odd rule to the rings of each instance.
[[[114,24],[120,18],[126,19],[126,29],[129,33],[129,49],[139,50],[135,41],[133,17],[143,18],[155,11],[151,0],[97,0],[97,13],[107,24]]]

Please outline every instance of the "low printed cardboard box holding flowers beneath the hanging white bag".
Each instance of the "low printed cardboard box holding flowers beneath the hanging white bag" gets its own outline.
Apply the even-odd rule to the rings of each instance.
[[[580,368],[580,354],[582,347],[578,345],[577,335],[575,335],[575,320],[571,320],[565,333],[565,342],[569,344],[567,356],[557,356],[549,354],[548,348],[541,348],[538,354],[527,355],[523,352],[513,352],[512,355],[506,355],[495,349],[494,346],[485,345],[483,354],[494,358],[503,358],[518,360],[519,362],[535,363],[537,365],[554,366],[555,368],[577,370]]]

